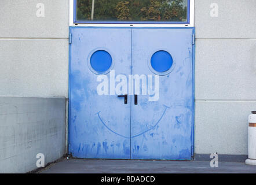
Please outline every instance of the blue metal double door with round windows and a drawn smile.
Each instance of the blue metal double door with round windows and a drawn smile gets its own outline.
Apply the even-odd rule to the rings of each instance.
[[[193,28],[75,27],[70,33],[72,156],[190,160]]]

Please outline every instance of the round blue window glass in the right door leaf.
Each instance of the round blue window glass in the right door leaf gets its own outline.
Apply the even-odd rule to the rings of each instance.
[[[151,57],[151,66],[159,73],[168,71],[172,65],[173,58],[167,51],[156,51]]]

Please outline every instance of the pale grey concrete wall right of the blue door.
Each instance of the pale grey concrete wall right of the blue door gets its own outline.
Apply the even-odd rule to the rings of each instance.
[[[210,16],[211,3],[218,17]],[[256,110],[255,8],[255,0],[195,0],[195,153],[247,155],[247,117]]]

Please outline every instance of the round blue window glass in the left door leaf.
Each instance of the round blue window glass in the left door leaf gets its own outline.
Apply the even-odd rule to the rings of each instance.
[[[90,58],[90,64],[94,71],[105,72],[112,65],[112,57],[107,51],[98,50],[92,54]]]

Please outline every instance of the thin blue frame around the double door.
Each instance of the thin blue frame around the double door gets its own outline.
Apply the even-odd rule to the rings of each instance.
[[[70,38],[69,38],[69,59],[68,59],[68,65],[69,65],[69,69],[68,69],[68,154],[71,154],[70,152],[70,123],[71,123],[71,99],[70,99],[70,95],[71,95],[71,43],[72,43],[72,35],[71,35],[71,28],[70,27]],[[74,27],[73,27],[74,28]],[[81,27],[82,28],[82,27]],[[95,27],[84,27],[84,28],[95,28]],[[113,27],[98,27],[98,28],[113,28]],[[122,27],[120,27],[122,28]],[[129,27],[130,28],[130,27]],[[143,28],[143,27],[142,27]],[[150,28],[150,27],[144,27],[147,29],[156,29],[155,28]],[[159,27],[158,27],[159,28]],[[131,29],[136,29],[136,28],[131,28]],[[141,29],[141,28],[137,28],[137,29]],[[195,27],[169,27],[169,28],[161,28],[161,29],[192,29],[193,35],[191,38],[192,41],[192,125],[191,125],[191,158],[194,157],[195,155]]]

